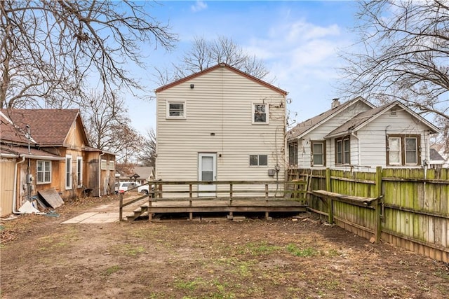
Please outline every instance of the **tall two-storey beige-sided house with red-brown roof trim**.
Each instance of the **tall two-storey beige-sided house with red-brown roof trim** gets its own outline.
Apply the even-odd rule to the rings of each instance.
[[[227,64],[158,88],[156,180],[283,181],[286,95]]]

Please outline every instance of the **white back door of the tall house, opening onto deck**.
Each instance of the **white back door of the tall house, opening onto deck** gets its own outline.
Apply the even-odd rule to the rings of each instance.
[[[198,181],[215,181],[217,179],[217,154],[199,153],[198,154]],[[198,185],[199,191],[214,191],[208,193],[198,193],[198,196],[217,196],[215,192],[217,185],[207,184]]]

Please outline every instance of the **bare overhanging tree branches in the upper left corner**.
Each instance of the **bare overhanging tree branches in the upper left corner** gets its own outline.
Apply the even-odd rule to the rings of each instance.
[[[0,108],[65,108],[91,88],[105,95],[144,88],[130,67],[145,67],[150,46],[170,49],[176,41],[149,14],[151,5],[0,1]]]

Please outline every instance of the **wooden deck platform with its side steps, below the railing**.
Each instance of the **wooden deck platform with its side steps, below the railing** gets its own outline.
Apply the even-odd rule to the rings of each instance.
[[[302,201],[284,198],[158,200],[140,204],[140,207],[133,211],[133,216],[127,218],[135,220],[148,217],[149,221],[152,221],[154,214],[189,213],[189,219],[192,219],[194,213],[229,213],[232,216],[234,212],[264,212],[268,218],[270,212],[302,212],[306,211],[306,207]]]

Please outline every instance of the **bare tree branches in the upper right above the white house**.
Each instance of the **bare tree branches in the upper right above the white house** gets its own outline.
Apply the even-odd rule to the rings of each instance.
[[[380,102],[398,99],[419,113],[434,113],[448,132],[447,1],[363,1],[358,18],[356,46],[363,52],[342,55],[349,79],[344,91]]]

